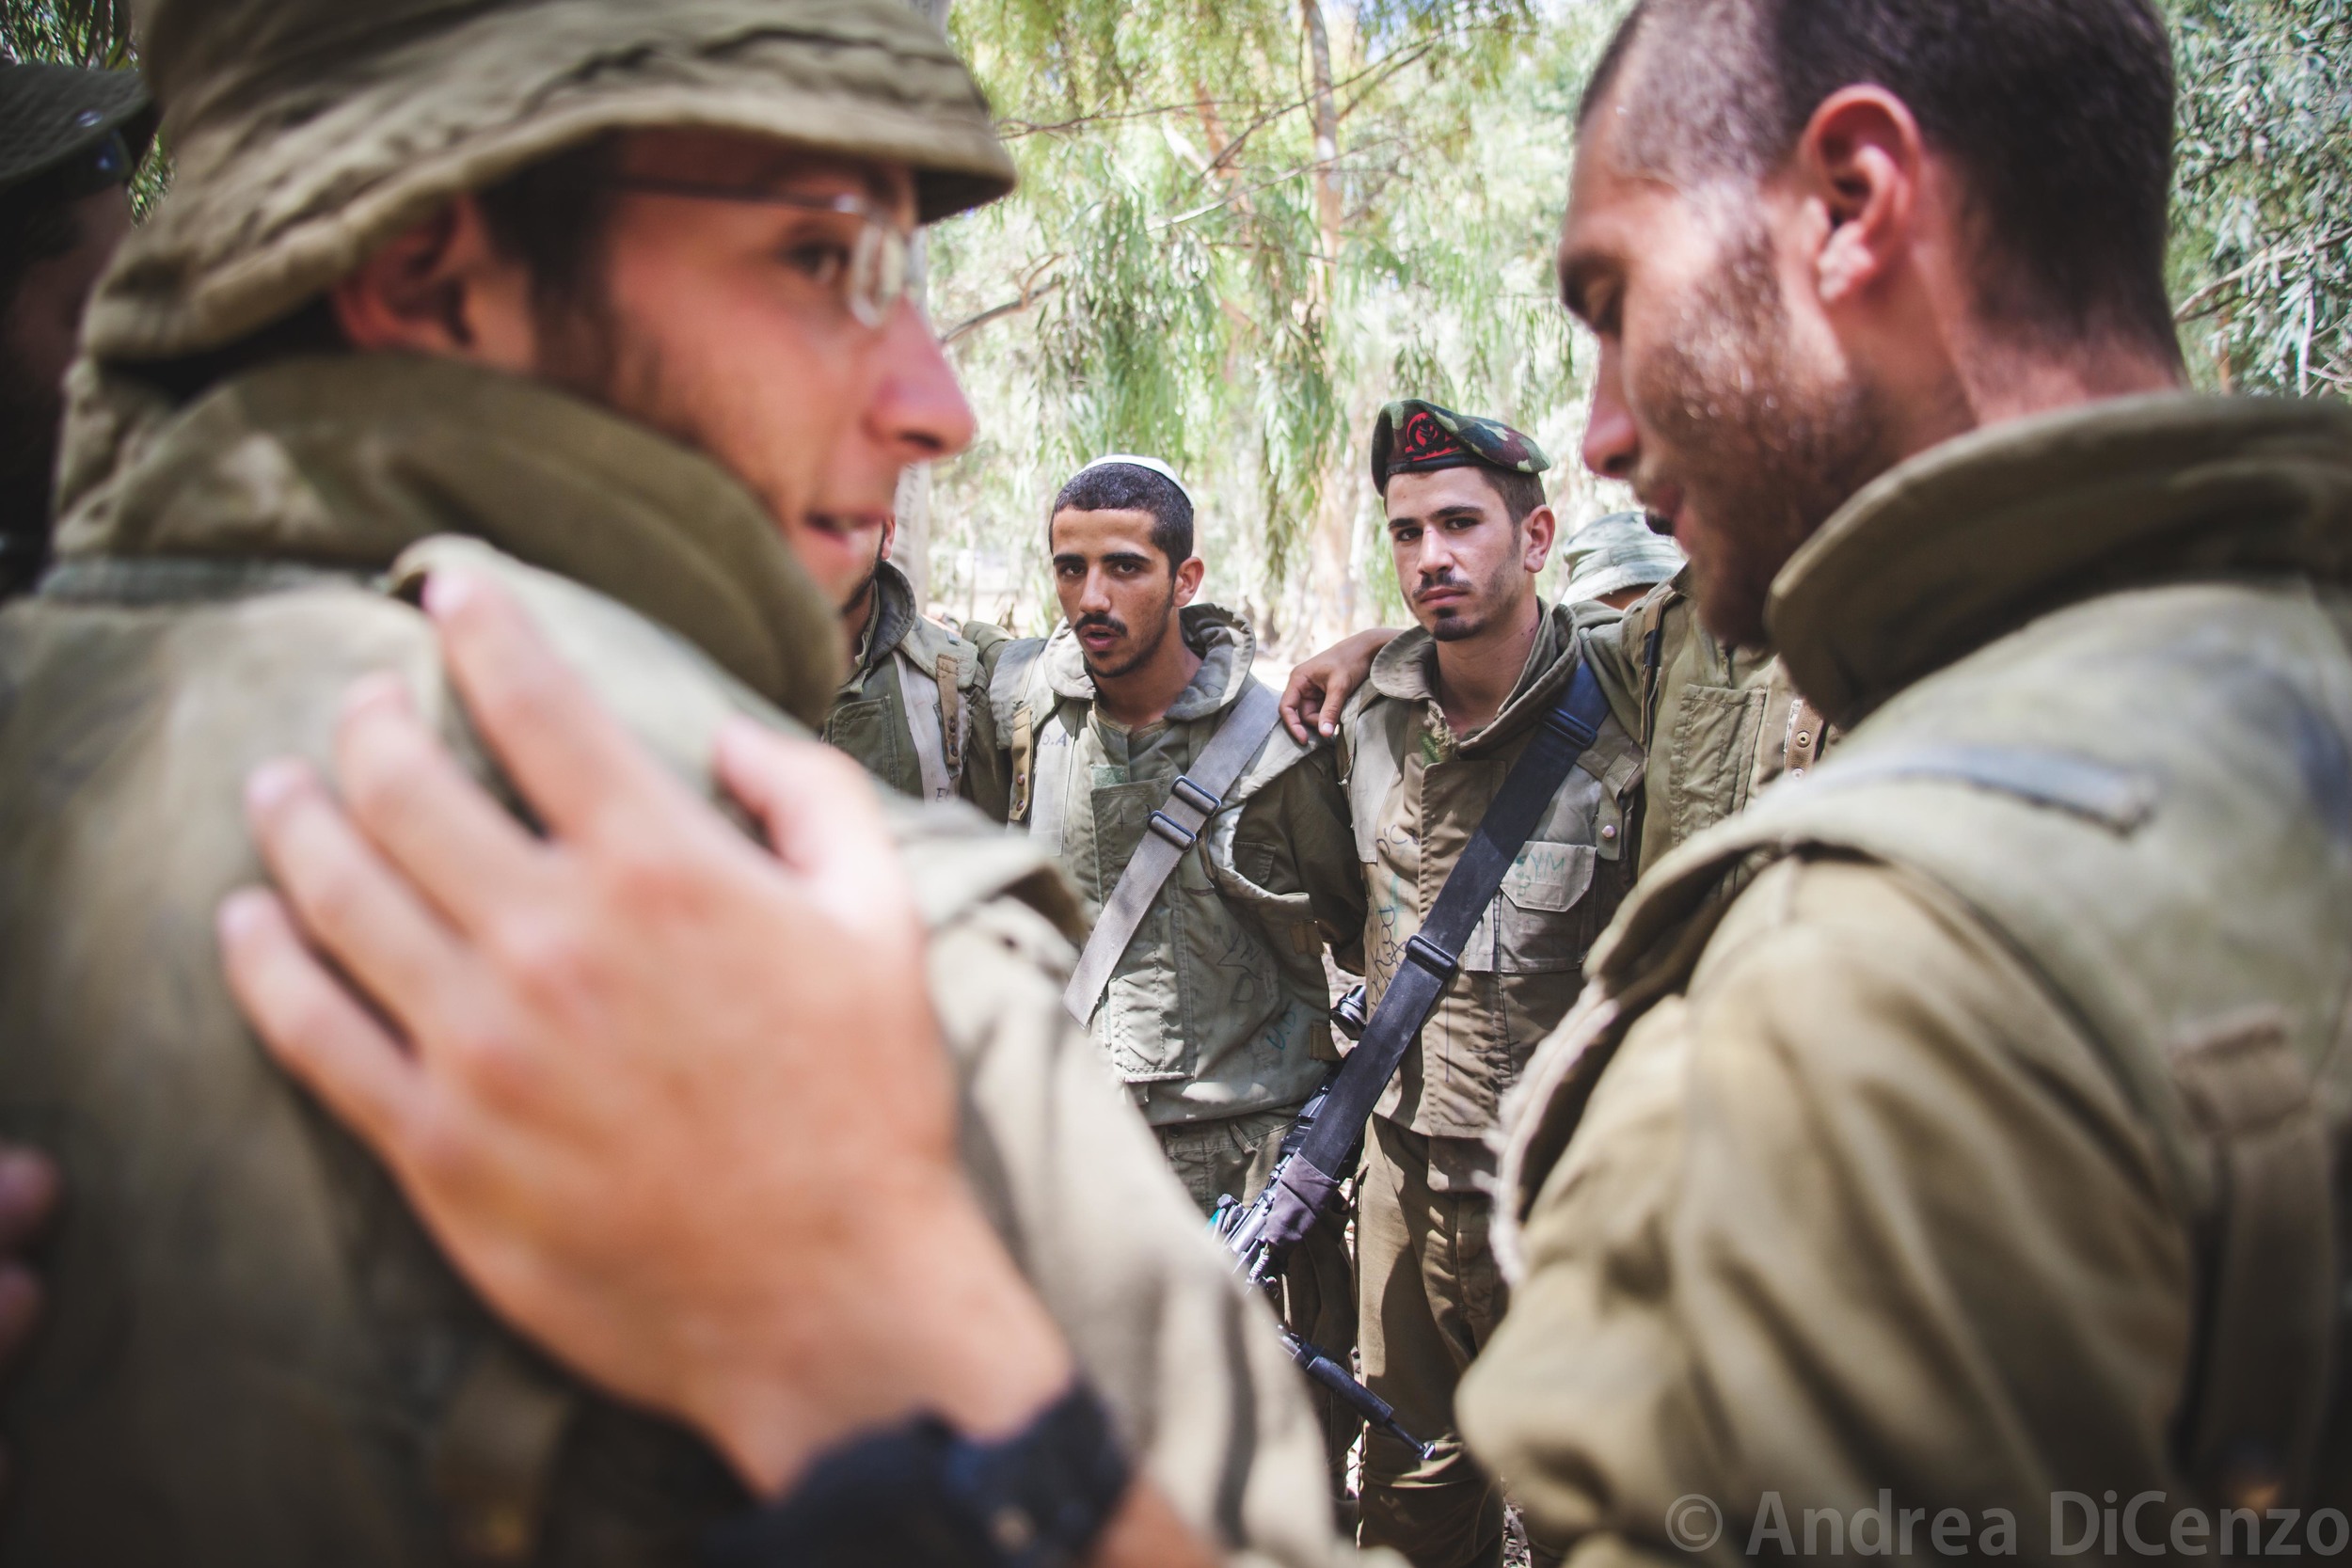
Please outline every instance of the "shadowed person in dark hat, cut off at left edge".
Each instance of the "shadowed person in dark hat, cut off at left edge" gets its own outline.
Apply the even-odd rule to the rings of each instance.
[[[49,562],[66,367],[153,134],[129,71],[0,63],[0,599]]]

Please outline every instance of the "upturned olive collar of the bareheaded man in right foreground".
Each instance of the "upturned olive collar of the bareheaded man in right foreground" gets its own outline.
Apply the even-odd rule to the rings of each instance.
[[[2352,578],[2352,409],[2166,393],[1964,435],[1830,517],[1766,621],[1853,726],[2034,616],[2225,574]]]

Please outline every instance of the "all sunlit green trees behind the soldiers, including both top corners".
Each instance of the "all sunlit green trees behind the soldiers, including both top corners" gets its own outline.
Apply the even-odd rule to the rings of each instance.
[[[913,0],[1021,190],[927,244],[974,447],[901,498],[934,609],[1049,625],[1044,508],[1105,451],[1200,498],[1204,592],[1296,658],[1404,609],[1369,480],[1390,397],[1552,454],[1592,343],[1557,303],[1573,106],[1625,0]],[[2171,282],[2199,386],[2352,395],[2352,5],[2159,0],[2180,61]],[[125,61],[125,0],[0,0],[19,59]],[[151,169],[153,200],[167,167]]]

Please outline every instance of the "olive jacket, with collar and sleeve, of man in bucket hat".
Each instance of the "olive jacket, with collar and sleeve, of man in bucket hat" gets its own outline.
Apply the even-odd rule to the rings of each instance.
[[[823,712],[837,621],[717,468],[536,383],[355,355],[129,414],[61,567],[0,611],[0,1133],[71,1192],[5,1396],[0,1563],[696,1561],[743,1505],[727,1469],[489,1319],[247,1032],[212,912],[261,877],[247,771],[325,764],[355,677],[397,672],[477,757],[402,602],[435,564],[506,578],[706,788],[729,715]],[[983,1208],[1178,1514],[1322,1561],[1275,1324],[1061,1016],[1061,879],[962,806],[891,823]]]

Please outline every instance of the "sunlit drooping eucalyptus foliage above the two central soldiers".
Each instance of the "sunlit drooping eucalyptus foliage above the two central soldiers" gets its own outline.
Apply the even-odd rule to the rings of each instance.
[[[1381,402],[1569,430],[1550,244],[1606,21],[1529,0],[960,0],[1023,190],[938,233],[934,313],[983,418],[941,475],[941,543],[1035,564],[1054,482],[1148,449],[1197,482],[1211,590],[1261,630],[1376,609]],[[950,599],[962,569],[943,562]]]

